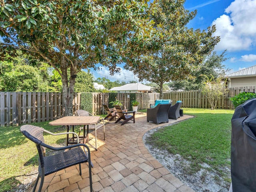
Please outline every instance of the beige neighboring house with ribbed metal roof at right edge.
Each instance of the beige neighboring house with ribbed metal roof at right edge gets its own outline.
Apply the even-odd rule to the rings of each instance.
[[[228,88],[256,86],[256,65],[231,73],[228,78]]]

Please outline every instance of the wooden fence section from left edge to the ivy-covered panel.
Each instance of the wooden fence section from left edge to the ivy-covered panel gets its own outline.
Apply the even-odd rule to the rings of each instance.
[[[73,111],[79,108],[80,93],[74,94]],[[60,92],[0,92],[0,125],[18,126],[64,116]]]

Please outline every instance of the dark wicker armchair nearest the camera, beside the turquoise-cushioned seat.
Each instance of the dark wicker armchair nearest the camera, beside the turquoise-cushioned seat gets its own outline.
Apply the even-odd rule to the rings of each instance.
[[[168,111],[172,104],[158,104],[155,108],[147,109],[147,121],[152,121],[156,124],[169,122]]]

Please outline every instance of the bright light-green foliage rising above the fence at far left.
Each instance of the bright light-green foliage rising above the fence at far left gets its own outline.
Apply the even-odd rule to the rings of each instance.
[[[33,67],[26,55],[16,58],[5,56],[0,61],[0,91],[3,92],[45,92],[49,90],[47,67],[38,62]]]

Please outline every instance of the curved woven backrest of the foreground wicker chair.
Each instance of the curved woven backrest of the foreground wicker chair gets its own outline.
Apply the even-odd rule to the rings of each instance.
[[[41,168],[43,168],[44,167],[43,151],[45,152],[45,148],[41,146],[41,143],[44,143],[44,136],[43,136],[44,128],[34,126],[34,125],[22,125],[20,127],[20,131],[26,138],[28,138],[29,140],[31,140],[36,144],[36,148],[37,148],[39,159],[40,159],[39,163]]]

